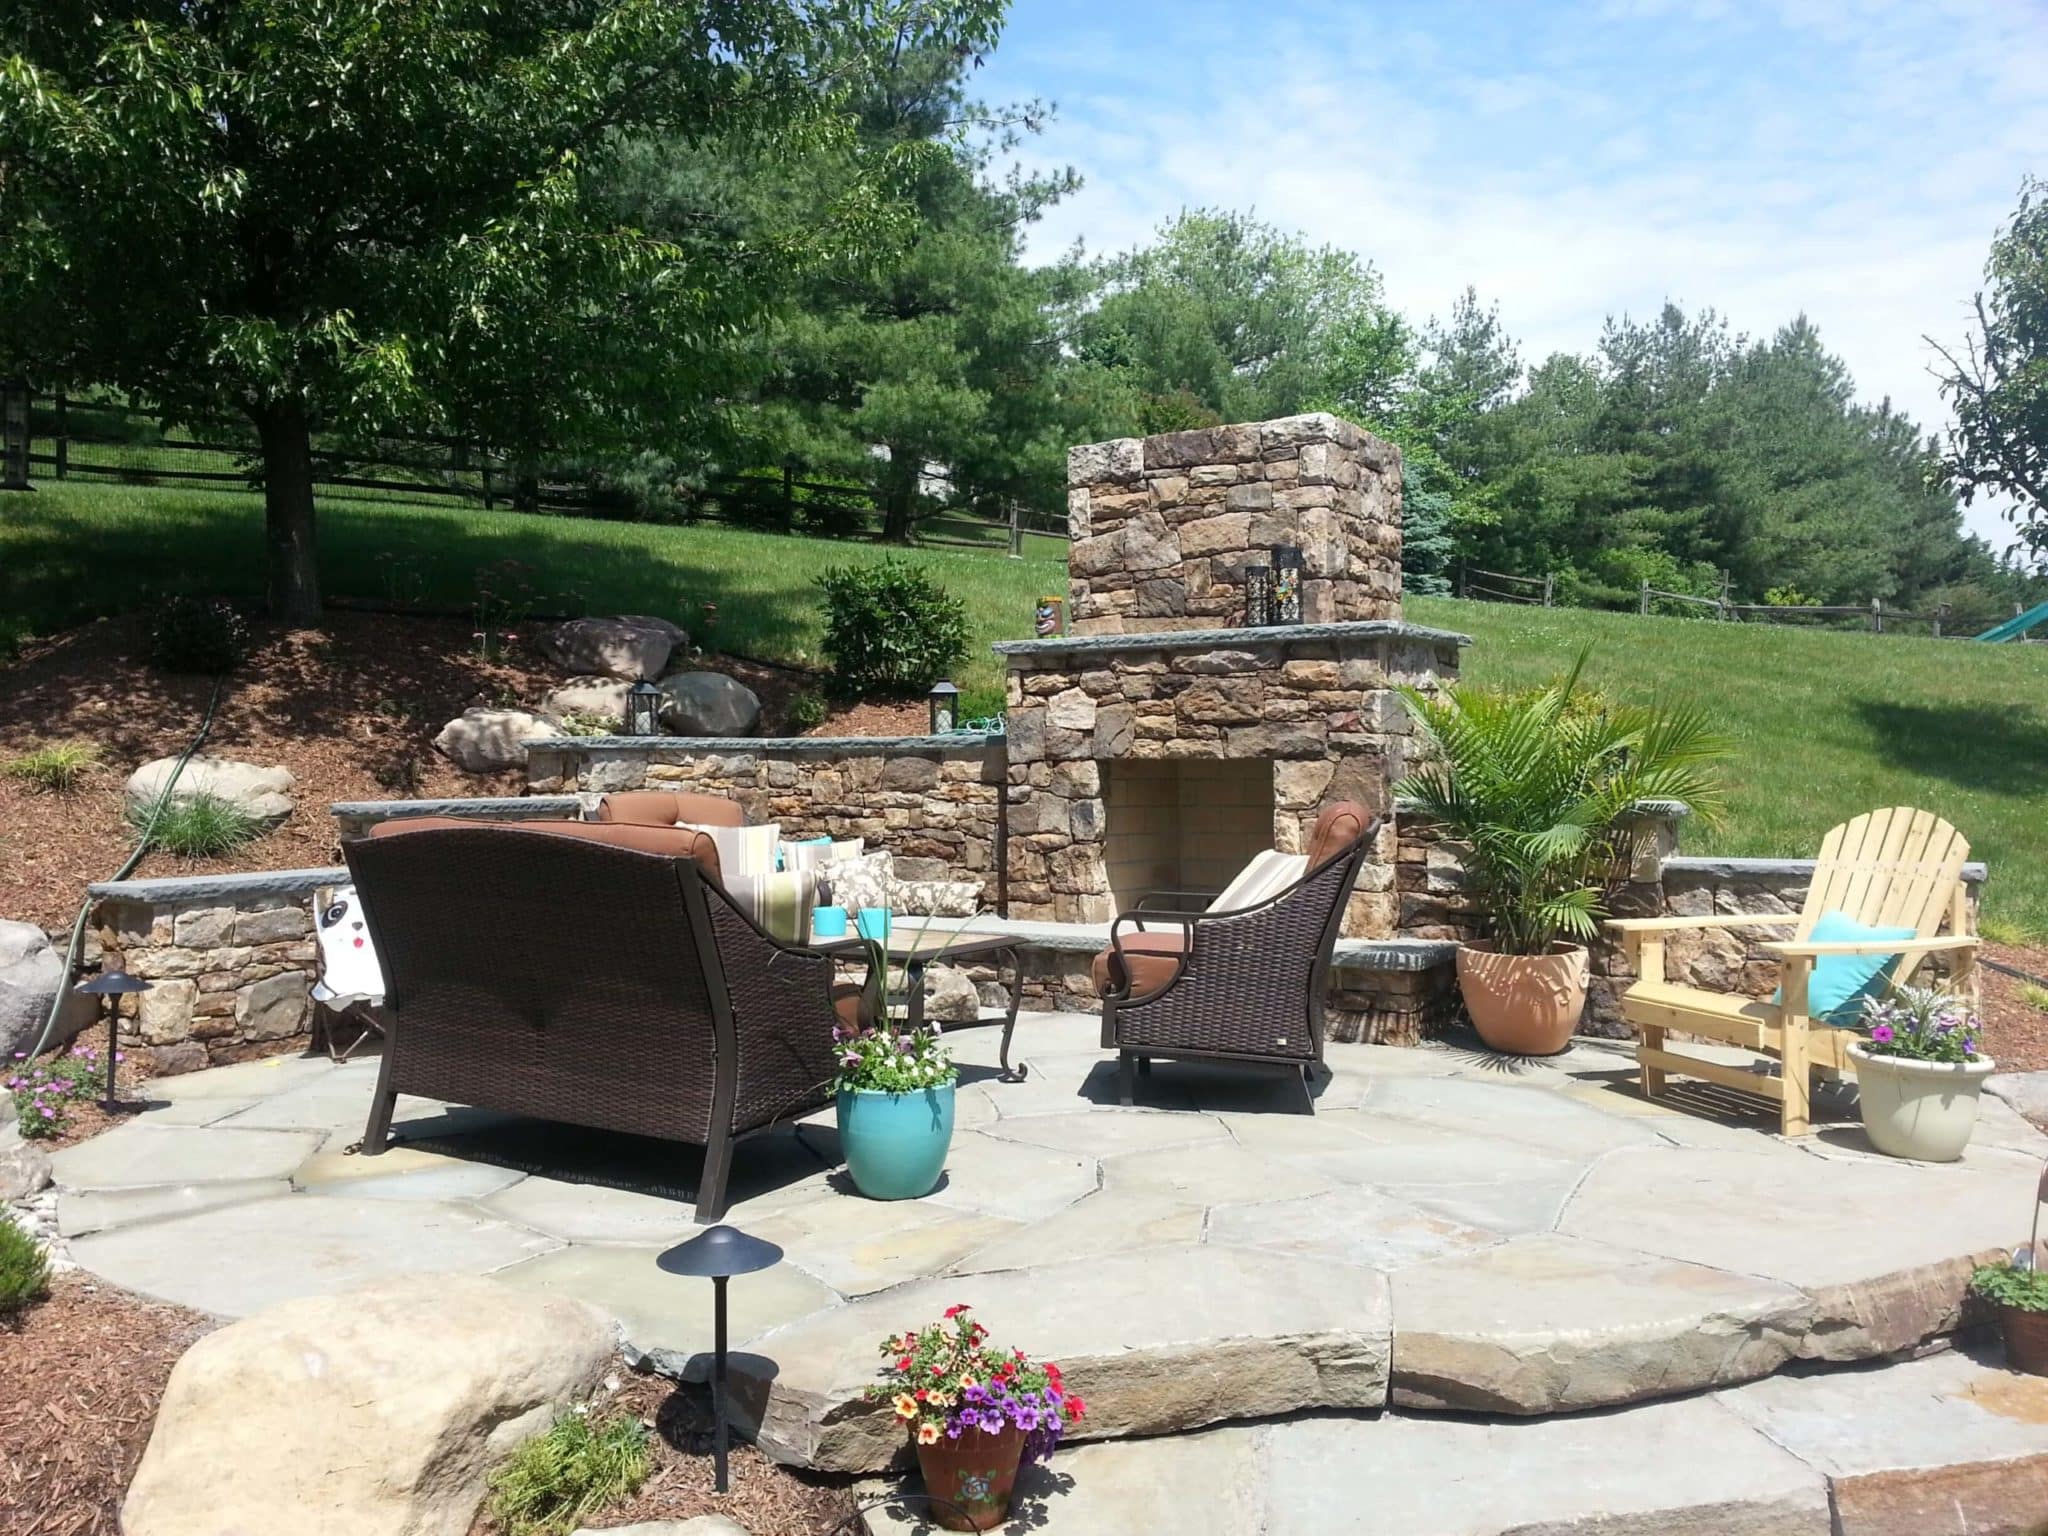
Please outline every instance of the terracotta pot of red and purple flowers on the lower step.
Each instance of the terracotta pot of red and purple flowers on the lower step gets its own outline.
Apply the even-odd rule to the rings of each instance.
[[[1059,1366],[995,1350],[967,1303],[940,1323],[883,1339],[885,1380],[866,1389],[909,1430],[932,1520],[995,1530],[1010,1516],[1018,1468],[1047,1460],[1085,1413]]]

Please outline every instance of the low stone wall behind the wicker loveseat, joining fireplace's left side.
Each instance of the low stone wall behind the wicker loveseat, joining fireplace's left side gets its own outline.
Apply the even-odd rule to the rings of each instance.
[[[920,737],[551,737],[526,754],[545,795],[676,788],[723,795],[782,836],[862,838],[903,879],[981,881],[995,903],[1004,739]]]

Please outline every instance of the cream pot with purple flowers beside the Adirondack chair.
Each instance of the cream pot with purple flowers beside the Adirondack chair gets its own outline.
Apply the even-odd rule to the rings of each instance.
[[[1892,1157],[1954,1163],[1976,1130],[1976,1096],[1997,1063],[1978,1055],[1976,1014],[1942,987],[1896,987],[1864,1001],[1849,1042],[1870,1145]]]

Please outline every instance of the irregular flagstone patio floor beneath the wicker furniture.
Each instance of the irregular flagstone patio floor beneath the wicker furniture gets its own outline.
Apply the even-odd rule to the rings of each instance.
[[[971,1300],[1059,1358],[1090,1434],[1303,1409],[1548,1415],[1890,1354],[1956,1327],[1968,1266],[2023,1235],[2048,1137],[1985,1100],[1958,1165],[1870,1153],[1853,1120],[1786,1143],[1720,1106],[1651,1106],[1595,1042],[1329,1049],[1319,1112],[1284,1085],[1159,1063],[1114,1104],[1098,1022],[954,1036],[958,1133],[924,1200],[858,1198],[829,1110],[743,1143],[729,1221],[788,1260],[735,1280],[735,1370],[774,1456],[872,1470],[874,1341]],[[131,1124],[55,1157],[72,1257],[219,1315],[397,1272],[496,1274],[610,1309],[700,1370],[698,1153],[399,1100],[360,1157],[375,1061],[276,1059],[150,1083]],[[1681,1104],[1681,1102],[1679,1102]],[[1835,1104],[1837,1114],[1841,1104]],[[545,1169],[545,1171],[543,1171]]]

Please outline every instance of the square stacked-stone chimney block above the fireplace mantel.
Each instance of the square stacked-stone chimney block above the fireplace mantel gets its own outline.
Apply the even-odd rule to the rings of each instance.
[[[1067,451],[1077,635],[1245,623],[1245,563],[1303,553],[1303,618],[1401,614],[1401,455],[1337,416]]]

